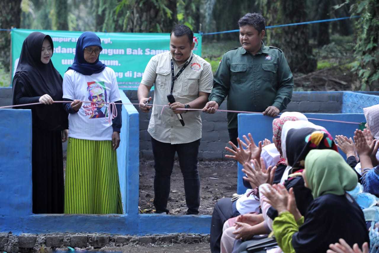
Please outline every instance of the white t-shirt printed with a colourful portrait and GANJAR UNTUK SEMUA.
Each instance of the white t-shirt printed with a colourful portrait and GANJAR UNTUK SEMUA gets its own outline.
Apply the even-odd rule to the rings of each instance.
[[[69,137],[95,141],[112,139],[112,122],[109,124],[106,120],[109,104],[89,103],[121,100],[116,74],[111,68],[105,67],[91,76],[68,70],[63,77],[63,98],[88,101],[77,113],[69,114]]]

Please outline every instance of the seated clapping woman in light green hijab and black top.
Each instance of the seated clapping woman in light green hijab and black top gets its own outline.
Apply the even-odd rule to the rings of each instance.
[[[264,184],[260,193],[278,212],[273,231],[284,252],[326,252],[329,245],[344,238],[348,245],[368,242],[363,212],[346,193],[358,179],[338,152],[311,150],[302,171],[305,186],[314,200],[303,217],[296,207],[293,190]],[[354,225],[352,225],[354,224]]]

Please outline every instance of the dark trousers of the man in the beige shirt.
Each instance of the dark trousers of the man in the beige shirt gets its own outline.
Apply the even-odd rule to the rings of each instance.
[[[184,191],[188,207],[187,214],[198,214],[200,206],[200,177],[197,171],[197,155],[199,154],[200,139],[189,143],[171,144],[151,138],[151,144],[155,168],[154,206],[157,213],[169,212],[167,202],[176,152],[184,179]]]

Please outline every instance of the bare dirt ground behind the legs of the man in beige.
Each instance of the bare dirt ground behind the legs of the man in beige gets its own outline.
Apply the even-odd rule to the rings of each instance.
[[[199,214],[213,212],[218,199],[229,198],[237,191],[237,164],[235,161],[199,161],[200,208]],[[154,161],[139,162],[139,211],[154,212]],[[171,190],[167,208],[170,214],[185,214],[187,211],[184,183],[179,162],[176,160],[171,175]]]

